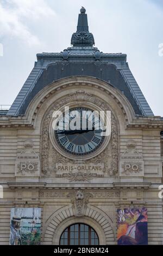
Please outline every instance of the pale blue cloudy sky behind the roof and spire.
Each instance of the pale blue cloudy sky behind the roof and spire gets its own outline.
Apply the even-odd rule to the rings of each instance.
[[[70,46],[82,5],[95,46],[127,53],[147,102],[163,116],[163,0],[0,0],[0,105],[12,104],[36,53]]]

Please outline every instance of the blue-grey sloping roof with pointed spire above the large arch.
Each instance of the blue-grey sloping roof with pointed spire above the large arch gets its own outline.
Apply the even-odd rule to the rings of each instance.
[[[88,30],[87,16],[83,9],[80,12],[77,32],[72,35],[73,46],[60,53],[37,54],[37,62],[7,115],[24,115],[35,95],[53,81],[84,75],[104,80],[120,90],[128,98],[136,115],[153,116],[129,69],[126,54],[103,53],[93,47],[94,38]],[[78,37],[79,32],[86,32],[87,35]]]

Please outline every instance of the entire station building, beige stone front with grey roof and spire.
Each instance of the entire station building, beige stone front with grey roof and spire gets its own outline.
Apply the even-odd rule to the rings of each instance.
[[[0,244],[9,244],[12,208],[41,208],[42,245],[116,245],[117,209],[136,207],[148,210],[148,245],[162,245],[163,120],[127,56],[93,46],[84,8],[71,44],[37,54],[11,108],[0,112]],[[65,106],[79,115],[110,111],[111,134],[54,132],[53,113]]]

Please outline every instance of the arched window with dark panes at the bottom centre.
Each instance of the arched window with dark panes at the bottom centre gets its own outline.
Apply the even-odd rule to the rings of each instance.
[[[77,223],[65,229],[60,237],[60,245],[99,245],[99,239],[89,225]]]

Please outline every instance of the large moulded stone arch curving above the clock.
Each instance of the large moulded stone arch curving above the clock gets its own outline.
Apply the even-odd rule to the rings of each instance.
[[[32,102],[29,104],[26,111],[26,118],[30,123],[35,125],[38,112],[41,109],[42,112],[39,112],[39,120],[40,117],[45,114],[45,111],[47,111],[49,106],[56,100],[59,100],[68,94],[80,92],[81,90],[91,93],[96,97],[98,95],[98,97],[104,102],[111,103],[112,110],[118,108],[116,116],[123,116],[120,123],[123,122],[128,124],[133,121],[135,112],[128,99],[122,94],[122,92],[111,86],[109,83],[90,76],[73,76],[71,78],[64,78],[46,86],[39,93],[37,93]],[[38,124],[38,127],[40,127],[40,123]]]

